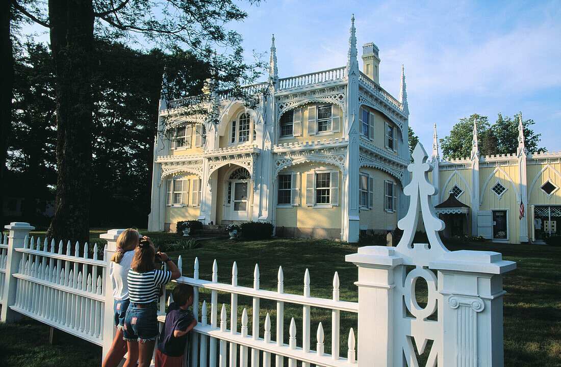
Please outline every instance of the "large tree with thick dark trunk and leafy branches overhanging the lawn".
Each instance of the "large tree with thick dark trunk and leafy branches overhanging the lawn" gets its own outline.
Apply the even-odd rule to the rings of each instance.
[[[219,44],[226,51],[214,66],[218,73],[229,74],[224,81],[237,81],[250,70],[243,63],[240,35],[224,29],[226,22],[246,17],[232,0],[49,0],[48,15],[35,3],[13,3],[13,8],[50,30],[58,172],[50,238],[89,236],[94,34],[106,39],[140,37],[164,47],[181,44],[207,59],[210,46]]]

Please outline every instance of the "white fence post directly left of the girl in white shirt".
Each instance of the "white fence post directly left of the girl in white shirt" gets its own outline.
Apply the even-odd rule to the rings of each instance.
[[[115,337],[116,328],[114,325],[114,314],[113,314],[113,285],[111,284],[111,278],[109,277],[109,263],[113,254],[117,250],[117,238],[124,229],[111,229],[107,233],[102,233],[99,238],[107,240],[107,247],[104,252],[105,259],[105,277],[103,279],[103,289],[105,294],[105,310],[104,310],[104,324],[103,324],[103,355],[102,360],[107,355],[111,345],[113,343],[113,338]]]

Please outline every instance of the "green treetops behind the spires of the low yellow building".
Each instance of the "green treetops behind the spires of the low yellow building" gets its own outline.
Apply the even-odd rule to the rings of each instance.
[[[477,145],[479,154],[484,156],[497,154],[516,153],[518,148],[518,123],[520,114],[514,117],[503,117],[498,114],[498,118],[493,125],[489,124],[486,116],[472,114],[470,117],[462,118],[454,125],[450,134],[440,139],[440,148],[446,159],[470,157],[473,124],[477,124]],[[524,140],[526,151],[542,152],[545,148],[538,148],[541,134],[536,134],[530,127],[534,125],[534,120],[522,120],[524,129]]]

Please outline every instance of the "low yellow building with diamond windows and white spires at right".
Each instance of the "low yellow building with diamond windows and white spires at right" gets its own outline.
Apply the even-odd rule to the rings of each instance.
[[[561,152],[527,152],[522,119],[516,154],[480,156],[475,128],[471,156],[448,161],[440,160],[435,126],[431,164],[439,188],[433,204],[445,236],[541,243],[561,233]],[[456,204],[444,204],[452,196]]]

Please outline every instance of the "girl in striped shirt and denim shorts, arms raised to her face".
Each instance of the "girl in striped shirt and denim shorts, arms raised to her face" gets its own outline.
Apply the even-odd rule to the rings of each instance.
[[[170,271],[157,270],[155,257],[167,263]],[[156,252],[152,241],[144,237],[135,250],[131,270],[128,271],[130,305],[125,317],[123,338],[127,341],[128,357],[124,367],[150,366],[154,345],[159,334],[159,287],[181,276],[179,269],[167,254]]]

